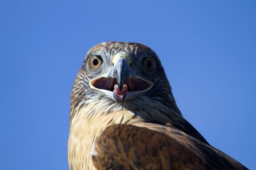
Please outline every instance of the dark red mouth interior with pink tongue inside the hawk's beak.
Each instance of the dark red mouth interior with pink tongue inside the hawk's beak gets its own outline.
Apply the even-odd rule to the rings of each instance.
[[[100,77],[91,81],[91,84],[96,89],[108,90],[115,94],[118,102],[122,101],[123,97],[129,92],[144,92],[152,87],[150,81],[145,81],[140,78],[127,78],[122,90],[118,88],[116,78]]]

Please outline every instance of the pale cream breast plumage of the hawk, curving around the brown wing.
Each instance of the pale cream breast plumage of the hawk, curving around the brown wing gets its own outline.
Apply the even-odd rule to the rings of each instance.
[[[129,110],[113,111],[105,114],[91,114],[93,106],[86,106],[73,113],[70,120],[68,139],[68,163],[70,169],[93,169],[91,151],[93,141],[106,127],[113,124],[135,124],[143,119]]]

